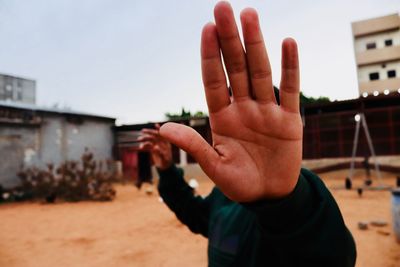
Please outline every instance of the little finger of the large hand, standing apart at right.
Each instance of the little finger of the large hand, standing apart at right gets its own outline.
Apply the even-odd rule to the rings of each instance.
[[[282,43],[281,107],[291,112],[300,109],[300,73],[297,44],[287,38]]]

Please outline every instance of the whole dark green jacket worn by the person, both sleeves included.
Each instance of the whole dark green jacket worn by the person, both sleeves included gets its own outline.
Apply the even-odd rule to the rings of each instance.
[[[356,249],[323,182],[302,169],[281,200],[237,203],[217,187],[194,196],[183,172],[159,171],[159,192],[178,219],[209,240],[209,266],[354,266]],[[189,266],[189,265],[187,265]]]

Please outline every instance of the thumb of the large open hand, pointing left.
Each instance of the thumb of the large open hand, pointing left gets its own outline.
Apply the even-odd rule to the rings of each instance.
[[[214,148],[193,128],[169,122],[161,126],[160,134],[169,142],[192,155],[203,171],[209,177],[214,177],[215,166],[218,164],[219,156]]]

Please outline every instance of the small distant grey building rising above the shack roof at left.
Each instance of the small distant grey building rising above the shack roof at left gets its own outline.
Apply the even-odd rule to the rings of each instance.
[[[0,101],[36,103],[36,81],[0,74]]]

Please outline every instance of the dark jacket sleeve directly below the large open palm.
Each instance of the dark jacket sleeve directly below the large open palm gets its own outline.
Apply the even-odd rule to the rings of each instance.
[[[302,169],[281,200],[244,204],[256,214],[272,266],[354,266],[356,247],[339,207],[320,178]]]

